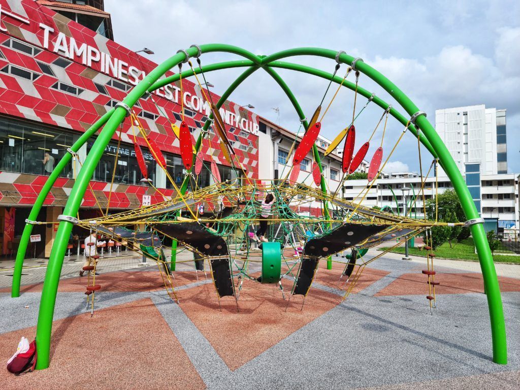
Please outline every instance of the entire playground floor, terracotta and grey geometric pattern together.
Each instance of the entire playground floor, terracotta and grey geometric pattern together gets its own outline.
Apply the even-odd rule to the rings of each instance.
[[[441,284],[433,316],[420,260],[392,255],[374,261],[344,302],[337,263],[332,270],[320,264],[305,302],[284,301],[275,286],[245,281],[238,305],[231,297],[219,305],[210,275],[199,272],[197,280],[190,263],[175,272],[179,305],[161,288],[156,267],[114,268],[97,278],[102,290],[92,318],[86,277],[60,282],[51,366],[19,377],[3,370],[0,387],[520,388],[517,278],[499,278],[509,343],[509,363],[500,366],[491,360],[482,275],[466,265],[436,267]],[[286,297],[292,283],[282,280]],[[4,360],[22,335],[35,335],[41,281],[24,285],[19,298],[8,291],[0,290]]]

